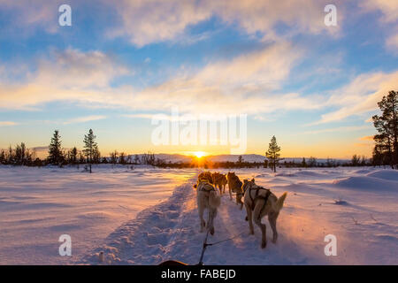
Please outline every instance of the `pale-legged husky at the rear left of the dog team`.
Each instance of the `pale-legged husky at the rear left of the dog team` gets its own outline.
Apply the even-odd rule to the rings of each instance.
[[[196,201],[197,210],[199,212],[199,220],[201,222],[201,233],[206,226],[206,222],[203,219],[204,209],[208,210],[207,218],[207,229],[209,229],[210,234],[214,234],[214,218],[217,215],[217,209],[221,203],[221,197],[216,192],[215,187],[210,184],[207,179],[199,179],[197,184],[194,185],[196,188]]]

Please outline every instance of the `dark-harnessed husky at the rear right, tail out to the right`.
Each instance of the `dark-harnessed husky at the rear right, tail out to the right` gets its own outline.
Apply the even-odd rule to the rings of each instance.
[[[269,189],[257,186],[255,180],[245,180],[242,186],[245,190],[244,204],[249,220],[249,233],[254,234],[253,222],[259,226],[262,233],[261,248],[264,249],[267,245],[266,226],[261,223],[261,218],[268,215],[268,221],[272,228],[272,242],[276,243],[278,239],[278,232],[276,228],[276,220],[279,212],[283,207],[283,203],[287,197],[287,192],[283,193],[279,198],[273,195]]]

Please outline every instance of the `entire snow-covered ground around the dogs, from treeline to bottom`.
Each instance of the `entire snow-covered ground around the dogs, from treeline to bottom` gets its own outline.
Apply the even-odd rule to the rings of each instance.
[[[199,261],[205,233],[192,185],[198,170],[103,166],[0,166],[0,264],[159,264]],[[226,172],[226,171],[225,171]],[[222,197],[205,264],[398,264],[398,172],[375,168],[242,169],[243,178],[288,192],[279,241],[260,249],[244,210]],[[59,256],[60,234],[73,256]],[[337,256],[325,256],[326,234]]]

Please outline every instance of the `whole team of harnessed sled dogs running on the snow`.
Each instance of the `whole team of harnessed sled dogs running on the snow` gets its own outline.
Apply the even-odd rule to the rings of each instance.
[[[276,220],[279,216],[279,211],[283,207],[287,193],[278,198],[269,189],[257,186],[254,179],[243,180],[242,183],[234,172],[228,172],[226,175],[219,172],[201,172],[199,174],[194,187],[196,188],[201,232],[206,227],[209,229],[210,234],[214,234],[213,222],[221,203],[221,195],[226,193],[226,184],[228,185],[230,199],[233,199],[234,194],[236,196],[236,204],[240,205],[240,209],[242,210],[243,205],[246,208],[249,233],[254,234],[253,221],[256,223],[256,226],[260,227],[262,233],[261,248],[264,249],[267,244],[266,226],[261,223],[261,219],[266,215],[268,215],[268,221],[272,228],[272,242],[275,243],[278,239]],[[205,209],[209,213],[207,225],[203,219]]]

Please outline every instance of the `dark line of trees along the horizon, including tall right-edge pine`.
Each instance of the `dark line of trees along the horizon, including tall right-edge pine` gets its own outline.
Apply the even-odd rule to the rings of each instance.
[[[383,96],[378,103],[381,115],[372,117],[373,125],[377,134],[373,136],[375,146],[372,157],[360,157],[353,155],[350,161],[339,162],[332,158],[327,158],[325,162],[318,162],[317,158],[302,158],[301,162],[283,161],[280,157],[280,147],[275,136],[269,144],[269,149],[265,152],[264,162],[247,162],[243,157],[238,157],[235,162],[210,162],[206,157],[202,157],[198,162],[193,157],[191,162],[165,161],[157,158],[154,153],[148,152],[141,155],[127,155],[125,152],[117,150],[109,153],[108,157],[102,157],[96,143],[96,135],[92,129],[83,139],[83,149],[62,149],[61,136],[55,130],[50,140],[49,155],[45,159],[36,156],[34,149],[27,149],[24,142],[17,144],[14,148],[0,149],[0,164],[23,165],[23,166],[46,166],[57,165],[88,165],[91,172],[91,164],[147,164],[164,168],[271,168],[274,172],[279,167],[338,167],[338,166],[391,166],[397,169],[398,164],[398,92],[390,91],[387,96]]]

